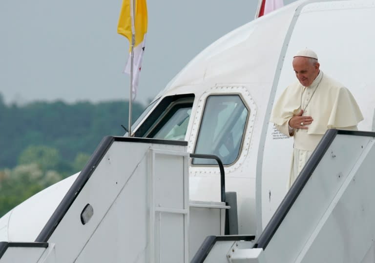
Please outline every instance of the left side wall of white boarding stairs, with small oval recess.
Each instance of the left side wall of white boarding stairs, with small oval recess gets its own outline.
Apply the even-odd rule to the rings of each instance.
[[[187,142],[104,138],[35,242],[1,242],[0,263],[188,262],[229,210],[221,162],[222,200],[189,201],[189,158]]]

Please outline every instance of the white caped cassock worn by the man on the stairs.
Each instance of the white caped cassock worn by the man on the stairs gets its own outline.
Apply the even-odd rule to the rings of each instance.
[[[302,96],[301,96],[302,95]],[[313,121],[309,129],[294,129],[289,134],[289,120],[300,110]],[[287,136],[294,136],[288,189],[310,158],[327,129],[357,130],[362,113],[350,91],[322,71],[308,87],[297,81],[288,86],[274,104],[270,121]]]

